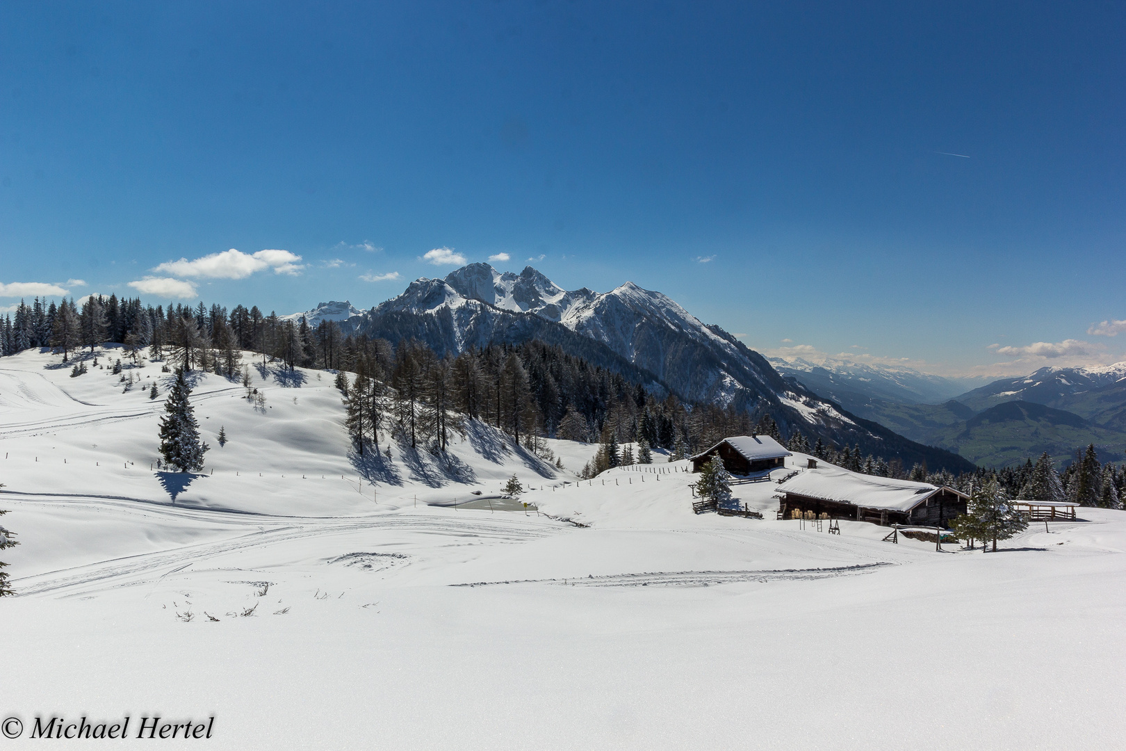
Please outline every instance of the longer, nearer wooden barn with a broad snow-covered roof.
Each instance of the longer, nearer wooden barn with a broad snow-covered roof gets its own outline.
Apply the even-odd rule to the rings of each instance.
[[[828,465],[804,470],[778,485],[778,516],[794,511],[828,513],[831,519],[856,519],[879,525],[920,525],[947,528],[966,512],[969,497],[947,486],[893,480]]]

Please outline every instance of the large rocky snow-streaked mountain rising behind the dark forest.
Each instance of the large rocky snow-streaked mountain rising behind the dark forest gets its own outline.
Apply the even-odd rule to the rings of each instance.
[[[403,294],[341,322],[346,333],[414,338],[439,354],[490,342],[539,339],[622,373],[651,390],[696,403],[769,413],[784,431],[861,449],[910,466],[954,472],[971,464],[849,414],[717,325],[700,322],[668,296],[625,283],[606,293],[564,290],[531,268],[501,274],[472,263],[443,279],[420,278]]]

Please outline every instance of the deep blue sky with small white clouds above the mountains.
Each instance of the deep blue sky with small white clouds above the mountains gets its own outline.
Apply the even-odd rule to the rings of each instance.
[[[452,249],[766,351],[1123,359],[1123,38],[1121,3],[5,3],[0,309],[368,307]]]

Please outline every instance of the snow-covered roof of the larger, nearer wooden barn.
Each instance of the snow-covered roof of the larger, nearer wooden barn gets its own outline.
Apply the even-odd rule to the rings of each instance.
[[[940,488],[926,482],[893,480],[850,472],[832,465],[805,470],[778,485],[781,493],[796,493],[866,509],[908,511],[937,493]],[[957,493],[954,489],[951,492]],[[963,495],[963,493],[958,493]]]

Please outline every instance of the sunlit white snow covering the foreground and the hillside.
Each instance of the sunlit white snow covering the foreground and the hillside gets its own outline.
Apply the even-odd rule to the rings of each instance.
[[[549,441],[557,471],[482,426],[444,462],[394,445],[372,484],[332,375],[269,368],[261,410],[200,377],[212,449],[185,482],[149,468],[159,364],[122,393],[57,361],[0,359],[20,540],[0,553],[20,593],[0,600],[0,714],[25,726],[215,715],[222,749],[1082,749],[1126,730],[1123,512],[936,553],[777,521],[774,483],[734,488],[765,520],[695,516],[695,476],[663,456],[577,484],[595,446]],[[513,473],[538,511],[428,506]]]

